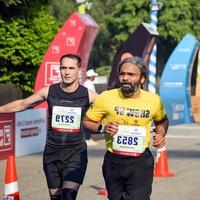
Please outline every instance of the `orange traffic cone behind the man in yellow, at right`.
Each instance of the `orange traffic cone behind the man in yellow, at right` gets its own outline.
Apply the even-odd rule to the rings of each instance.
[[[166,146],[157,149],[156,163],[154,166],[155,177],[171,177],[174,173],[169,172]]]

